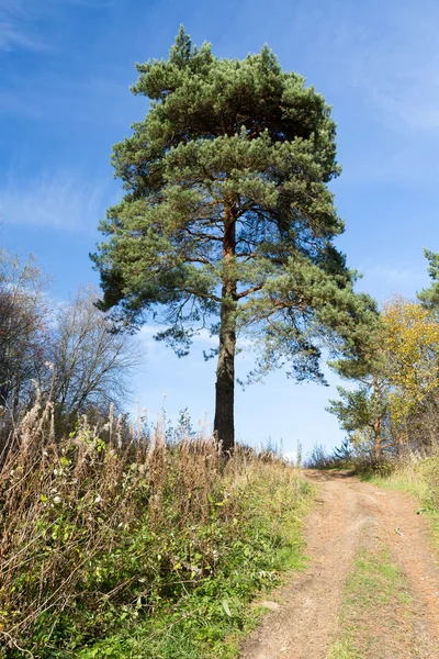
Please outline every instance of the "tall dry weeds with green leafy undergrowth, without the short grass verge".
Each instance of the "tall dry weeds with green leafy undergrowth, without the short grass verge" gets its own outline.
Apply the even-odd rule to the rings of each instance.
[[[256,493],[269,478],[279,485],[270,456],[237,449],[225,465],[210,437],[169,442],[158,426],[126,438],[112,416],[104,427],[83,417],[57,438],[52,404],[38,400],[10,437],[0,467],[0,656],[72,656],[121,616],[184,596],[225,560],[248,483]]]

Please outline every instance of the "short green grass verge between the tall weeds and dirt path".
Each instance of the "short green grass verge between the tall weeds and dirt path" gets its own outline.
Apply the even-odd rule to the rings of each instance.
[[[302,485],[302,503],[297,505],[297,482],[286,474],[283,467],[273,463],[259,465],[252,474],[247,473],[241,522],[214,578],[204,579],[171,606],[164,602],[146,621],[130,625],[77,657],[236,657],[240,639],[262,613],[261,606],[252,605],[255,595],[278,585],[285,571],[304,566],[297,515],[306,511],[309,490]]]

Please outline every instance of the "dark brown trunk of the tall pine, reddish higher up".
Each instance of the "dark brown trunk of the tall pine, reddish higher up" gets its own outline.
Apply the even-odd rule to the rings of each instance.
[[[221,303],[219,353],[216,369],[214,433],[223,453],[235,446],[235,350],[236,350],[236,272],[235,217],[229,209],[224,213],[223,289]]]

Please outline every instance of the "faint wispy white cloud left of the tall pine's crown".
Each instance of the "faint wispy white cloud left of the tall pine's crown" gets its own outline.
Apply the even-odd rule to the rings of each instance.
[[[45,174],[35,180],[10,177],[0,188],[0,222],[16,226],[92,232],[114,202],[108,185],[69,175]]]

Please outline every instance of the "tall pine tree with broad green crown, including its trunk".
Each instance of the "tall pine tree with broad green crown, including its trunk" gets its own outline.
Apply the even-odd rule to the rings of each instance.
[[[126,194],[92,256],[101,308],[132,326],[151,315],[178,355],[202,327],[218,335],[214,428],[227,450],[237,337],[257,351],[252,378],[289,365],[322,381],[323,340],[350,345],[359,313],[373,313],[334,246],[336,127],[323,97],[267,46],[219,59],[181,27],[167,60],[137,70],[132,91],[150,105],[114,146]]]

